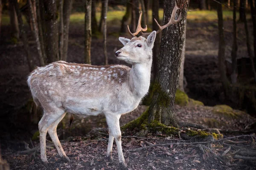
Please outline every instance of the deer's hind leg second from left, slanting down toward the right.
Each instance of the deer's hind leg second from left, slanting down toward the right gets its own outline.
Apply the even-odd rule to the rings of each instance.
[[[61,115],[55,122],[52,123],[52,125],[49,127],[48,133],[52,139],[53,144],[55,145],[55,148],[58,151],[59,156],[64,160],[70,162],[70,159],[67,157],[66,153],[64,152],[61,146],[61,142],[59,141],[58,135],[57,135],[57,126],[59,122],[61,122],[61,120],[64,118],[65,115],[66,113]]]

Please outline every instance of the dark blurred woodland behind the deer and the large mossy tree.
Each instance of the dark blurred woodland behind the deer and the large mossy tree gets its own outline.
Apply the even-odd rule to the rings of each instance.
[[[0,0],[0,144],[24,150],[23,141],[38,143],[41,110],[35,108],[26,79],[36,66],[64,60],[92,65],[124,64],[115,51],[119,37],[131,38],[140,11],[142,27],[163,25],[164,0]],[[189,0],[177,119],[207,128],[255,132],[256,20],[255,0]],[[172,37],[169,37],[172,40]],[[152,82],[160,36],[154,45]],[[152,89],[125,125],[150,104]],[[221,116],[220,116],[221,115]],[[105,117],[77,118],[69,129],[65,117],[60,139],[84,136],[107,127]],[[224,133],[224,131],[221,131]],[[240,133],[239,133],[240,134]]]

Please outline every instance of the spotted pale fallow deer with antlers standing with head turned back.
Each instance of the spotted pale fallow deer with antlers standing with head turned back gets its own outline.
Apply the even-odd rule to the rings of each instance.
[[[175,20],[177,5],[172,11],[172,17],[164,26],[157,23],[159,30],[151,33],[147,26],[140,25],[141,14],[135,33],[128,31],[131,40],[119,37],[124,45],[116,51],[115,56],[132,65],[104,65],[52,62],[38,67],[27,79],[35,104],[41,105],[44,114],[38,123],[40,132],[41,161],[47,166],[46,135],[49,133],[58,155],[66,160],[65,154],[57,136],[57,125],[66,113],[77,116],[104,114],[109,127],[107,157],[112,159],[113,141],[116,142],[119,164],[122,169],[128,169],[122,152],[121,130],[119,119],[122,114],[136,109],[143,97],[148,93],[152,65],[152,48],[157,33],[164,28],[180,21],[181,13]],[[142,36],[137,37],[141,32]]]

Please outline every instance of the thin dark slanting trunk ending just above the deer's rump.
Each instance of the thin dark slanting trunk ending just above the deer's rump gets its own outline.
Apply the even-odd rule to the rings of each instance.
[[[19,23],[19,27],[20,27],[20,34],[23,40],[23,44],[24,44],[24,48],[26,50],[26,54],[27,54],[27,61],[28,61],[28,65],[29,65],[29,71],[32,71],[34,69],[34,62],[33,59],[31,57],[31,53],[30,53],[30,49],[29,49],[29,42],[24,30],[24,25],[23,25],[23,20],[21,17],[21,13],[20,13],[20,8],[19,5],[17,3],[17,0],[10,0],[12,5],[15,8],[15,11],[17,13],[17,18],[18,18],[18,23]]]

